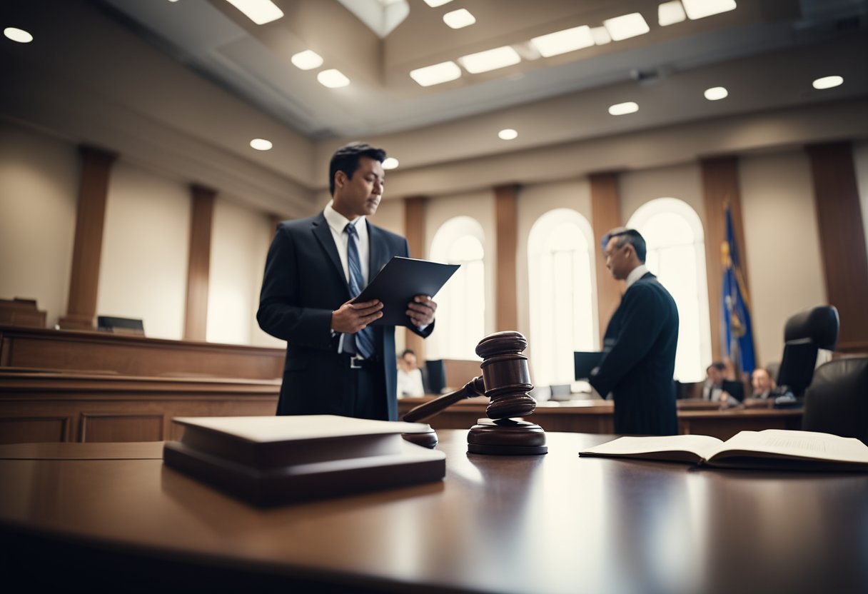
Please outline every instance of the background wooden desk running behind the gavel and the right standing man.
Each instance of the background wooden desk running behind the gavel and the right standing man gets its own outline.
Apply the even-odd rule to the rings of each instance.
[[[398,418],[411,408],[434,399],[434,396],[398,399]],[[469,429],[485,417],[489,399],[471,398],[457,402],[442,413],[424,421],[435,429]],[[679,400],[678,427],[681,433],[711,435],[729,439],[740,431],[759,429],[799,429],[802,410],[752,408],[726,409],[713,402]],[[686,404],[681,404],[686,403]],[[682,408],[683,406],[683,408]],[[611,400],[570,400],[546,402],[527,417],[547,432],[611,433],[614,403]]]

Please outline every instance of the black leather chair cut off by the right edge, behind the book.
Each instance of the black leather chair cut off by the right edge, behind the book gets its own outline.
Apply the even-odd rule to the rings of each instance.
[[[817,367],[805,393],[802,429],[854,437],[868,445],[868,357]]]

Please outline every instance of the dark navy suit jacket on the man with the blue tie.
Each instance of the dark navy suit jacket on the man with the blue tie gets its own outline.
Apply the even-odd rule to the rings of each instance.
[[[391,260],[409,256],[400,235],[365,220],[370,242],[369,277]],[[308,219],[281,222],[268,250],[256,320],[267,333],[286,340],[286,363],[278,414],[352,416],[352,394],[345,390],[352,373],[347,356],[338,353],[339,334],[332,336],[332,311],[350,300],[338,247],[320,213]],[[372,326],[374,344],[385,375],[386,410],[398,419],[395,395],[395,327]],[[434,325],[426,327],[427,336]]]

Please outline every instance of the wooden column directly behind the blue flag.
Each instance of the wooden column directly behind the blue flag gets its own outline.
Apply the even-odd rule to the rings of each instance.
[[[706,276],[708,284],[708,317],[711,320],[711,352],[713,360],[721,360],[727,352],[723,345],[723,306],[720,302],[723,261],[721,247],[727,234],[726,205],[733,214],[733,233],[738,243],[741,270],[744,273],[749,303],[750,282],[747,274],[747,247],[741,222],[739,162],[734,156],[704,159],[700,162],[702,194],[705,200]]]

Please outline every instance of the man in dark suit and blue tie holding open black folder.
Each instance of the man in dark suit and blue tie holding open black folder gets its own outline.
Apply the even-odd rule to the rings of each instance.
[[[378,300],[352,303],[392,256],[410,255],[400,235],[365,217],[383,195],[385,151],[354,142],[329,166],[332,201],[316,216],[283,221],[268,250],[256,314],[260,327],[286,340],[278,414],[337,414],[398,419],[395,327],[372,325]],[[437,304],[408,304],[411,330],[427,336]]]

